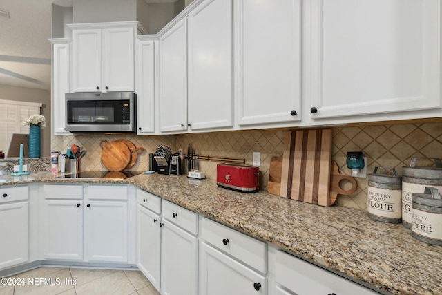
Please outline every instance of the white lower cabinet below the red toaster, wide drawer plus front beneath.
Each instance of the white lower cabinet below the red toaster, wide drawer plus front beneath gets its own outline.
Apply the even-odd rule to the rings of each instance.
[[[267,294],[266,243],[208,218],[200,225],[200,294]]]

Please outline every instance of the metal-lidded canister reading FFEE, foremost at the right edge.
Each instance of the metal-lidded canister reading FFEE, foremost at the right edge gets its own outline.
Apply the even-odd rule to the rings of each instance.
[[[442,245],[442,199],[435,187],[413,193],[412,236],[423,242]]]

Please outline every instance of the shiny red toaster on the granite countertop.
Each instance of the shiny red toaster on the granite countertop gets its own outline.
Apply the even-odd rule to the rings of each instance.
[[[216,184],[235,191],[253,193],[260,189],[259,167],[244,164],[218,164]]]

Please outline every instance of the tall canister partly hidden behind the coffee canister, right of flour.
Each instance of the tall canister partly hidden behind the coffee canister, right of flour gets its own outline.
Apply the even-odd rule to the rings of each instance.
[[[419,159],[434,160],[436,166],[416,167]],[[402,225],[411,229],[412,195],[435,187],[442,193],[442,162],[439,158],[412,158],[410,166],[402,167]]]

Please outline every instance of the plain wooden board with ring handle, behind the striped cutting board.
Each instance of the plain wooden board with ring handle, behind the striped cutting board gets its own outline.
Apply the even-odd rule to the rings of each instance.
[[[330,195],[328,206],[332,206],[336,201],[336,198],[339,194],[342,195],[351,195],[356,191],[358,185],[356,180],[352,178],[352,176],[340,174],[338,164],[335,161],[332,161],[332,170],[330,175]],[[269,193],[273,193],[274,195],[279,195],[281,190],[281,175],[282,175],[282,157],[272,157],[270,160],[270,169],[269,169],[269,182],[267,184],[267,191]],[[341,180],[344,180],[342,182]],[[343,189],[340,186],[345,184],[345,182],[349,182],[351,187],[349,189]]]

